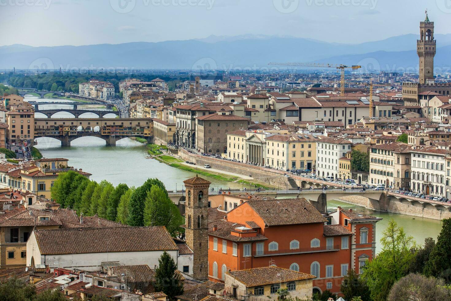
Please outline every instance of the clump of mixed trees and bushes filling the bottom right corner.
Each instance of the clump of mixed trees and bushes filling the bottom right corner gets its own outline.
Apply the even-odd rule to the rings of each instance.
[[[437,243],[428,237],[423,246],[391,220],[381,244],[360,278],[354,270],[344,278],[345,300],[451,300],[451,218],[443,220]]]

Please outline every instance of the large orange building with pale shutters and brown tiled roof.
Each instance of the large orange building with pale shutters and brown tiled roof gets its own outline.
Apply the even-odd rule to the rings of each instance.
[[[229,270],[276,265],[316,276],[313,292],[339,293],[348,269],[375,256],[373,229],[381,218],[340,208],[323,215],[304,198],[248,197],[229,210],[209,209],[212,281],[223,282]]]

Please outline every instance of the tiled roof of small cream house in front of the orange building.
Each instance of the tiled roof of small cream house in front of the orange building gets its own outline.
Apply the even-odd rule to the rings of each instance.
[[[226,272],[246,287],[256,287],[273,283],[290,282],[297,280],[314,279],[315,276],[283,269],[275,266],[244,269]]]

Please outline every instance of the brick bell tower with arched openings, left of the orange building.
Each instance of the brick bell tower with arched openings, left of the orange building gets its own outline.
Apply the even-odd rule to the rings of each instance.
[[[198,177],[183,181],[186,244],[193,250],[193,277],[208,280],[208,191],[211,182]]]

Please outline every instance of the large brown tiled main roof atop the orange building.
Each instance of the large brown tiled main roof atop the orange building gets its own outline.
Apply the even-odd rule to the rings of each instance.
[[[327,219],[304,198],[249,200],[246,203],[268,226],[327,222]],[[236,208],[233,210],[237,210]]]

